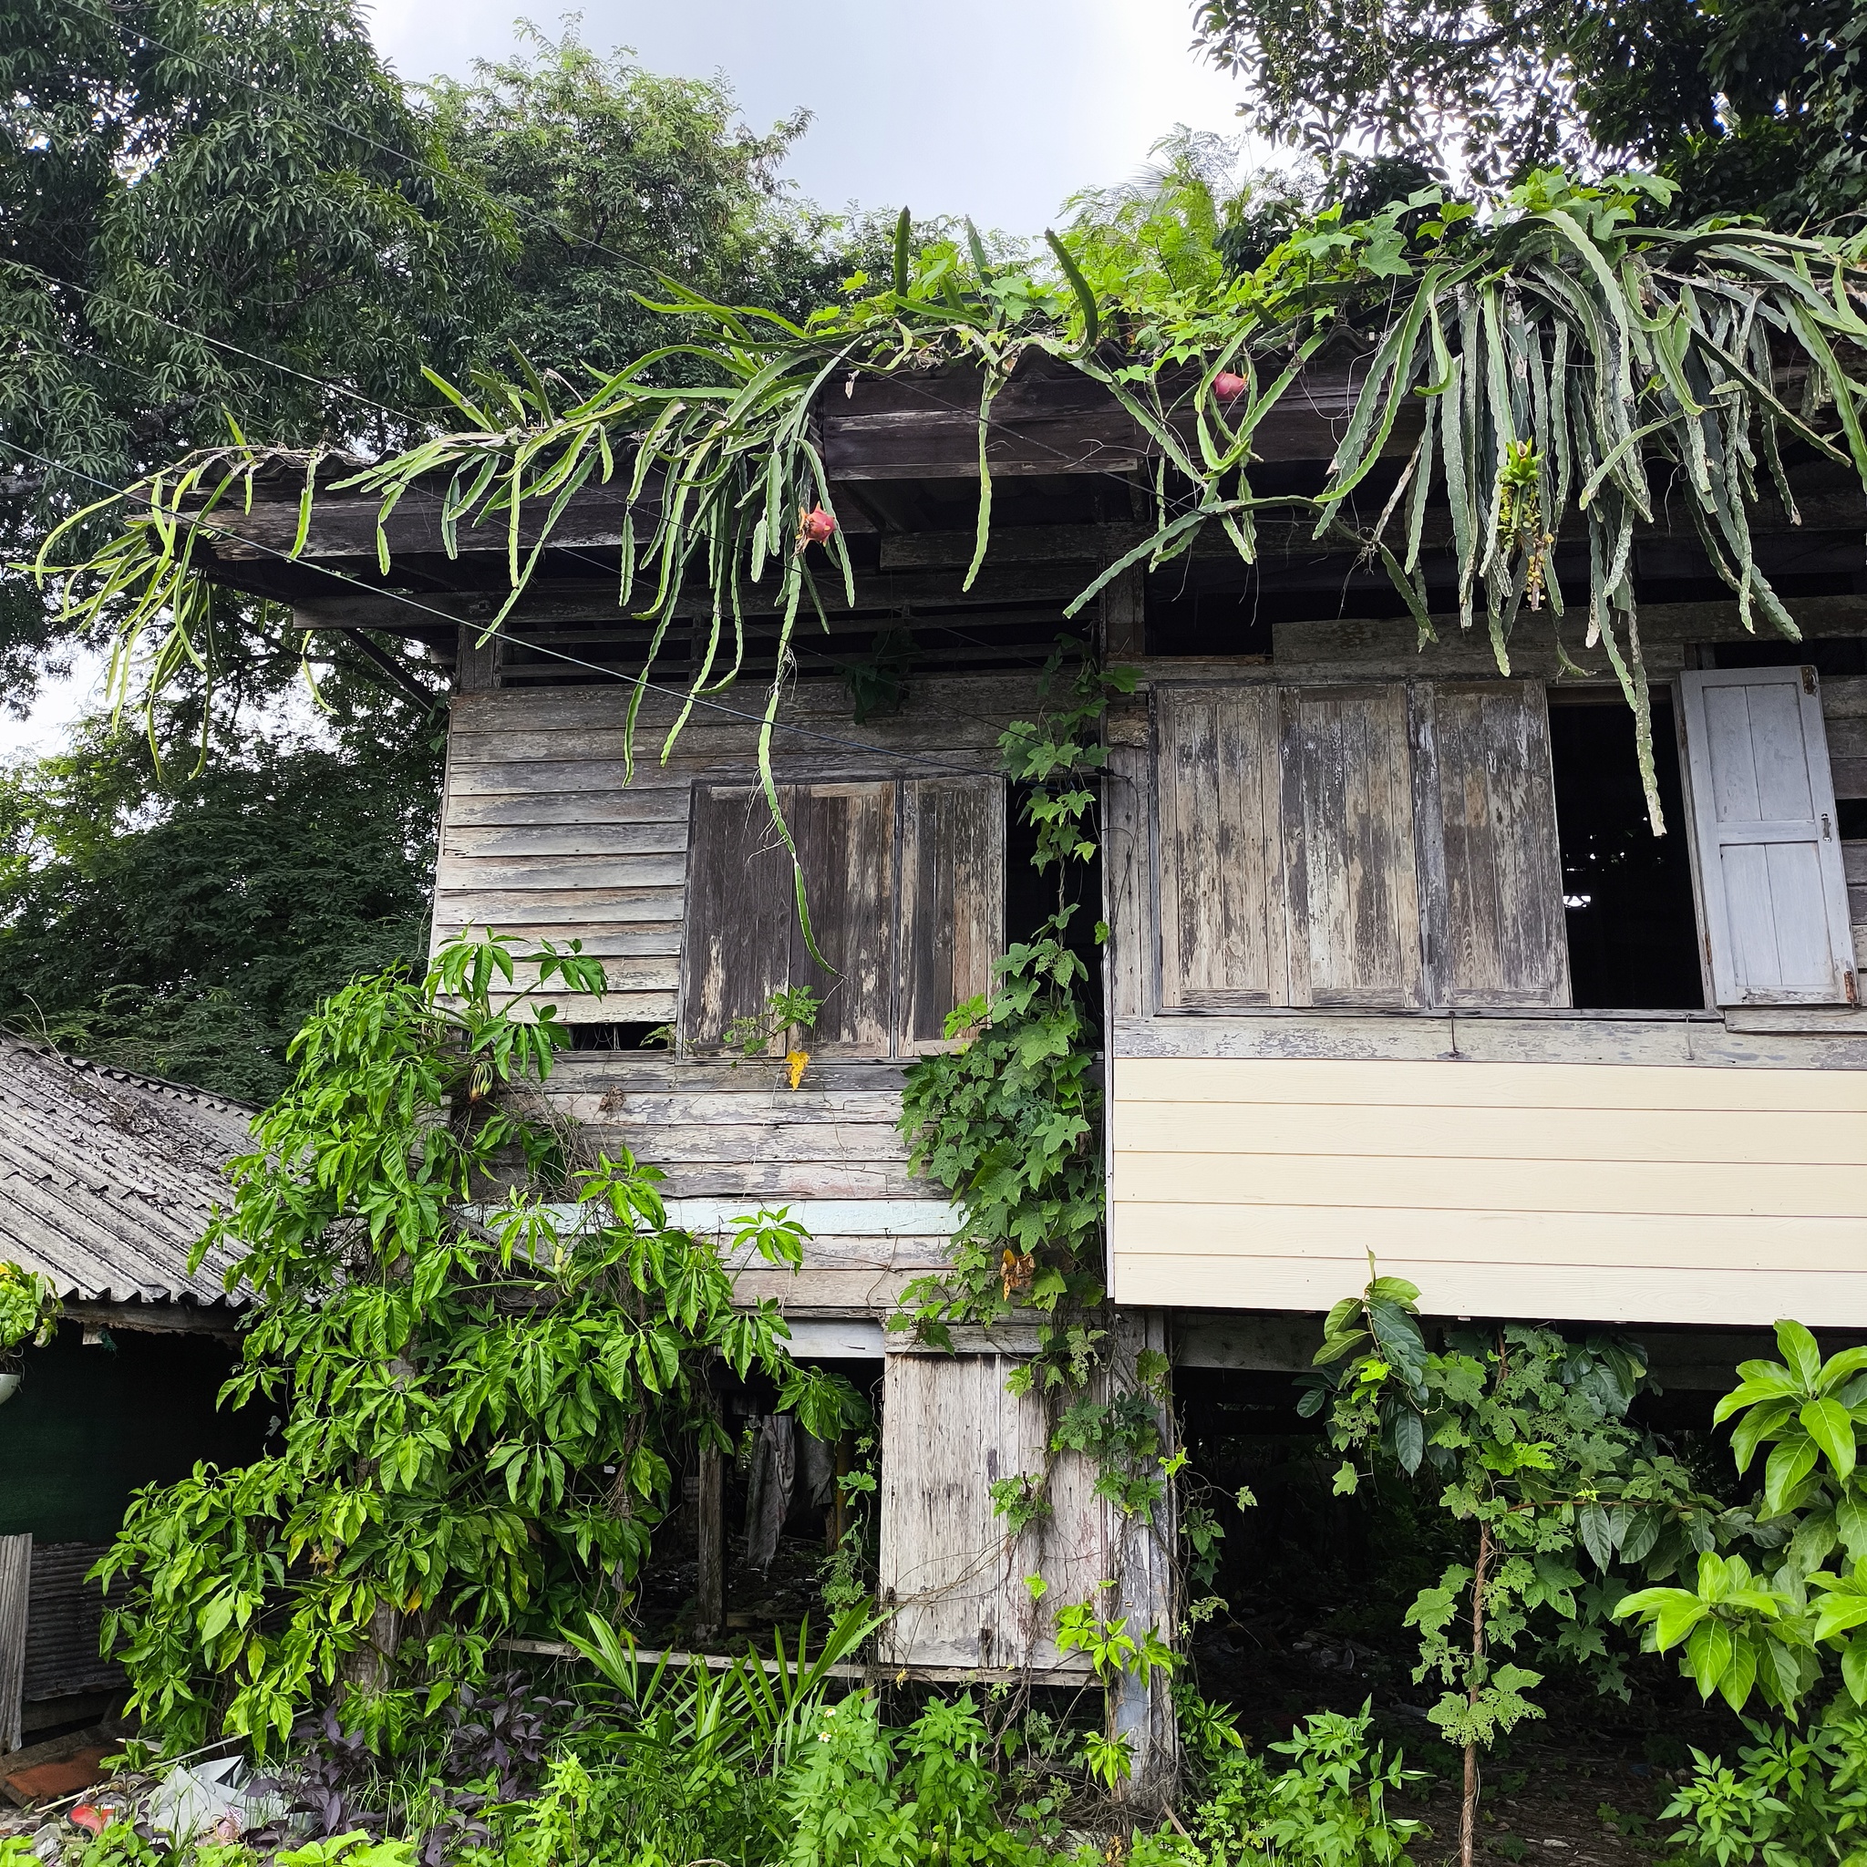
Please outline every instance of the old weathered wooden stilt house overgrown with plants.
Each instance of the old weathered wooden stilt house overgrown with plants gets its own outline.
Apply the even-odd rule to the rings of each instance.
[[[1260,482],[1318,485],[1350,401],[1341,372],[1288,396]],[[491,639],[504,530],[450,556],[435,498],[396,508],[386,579],[360,498],[323,498],[288,564],[284,482],[211,562],[310,627],[416,637],[452,668],[435,939],[581,939],[609,991],[566,1006],[553,1094],[661,1163],[685,1223],[786,1204],[808,1227],[797,1275],[745,1268],[741,1290],[779,1298],[803,1352],[887,1363],[892,1658],[1055,1667],[990,1499],[1042,1458],[1036,1402],[1004,1391],[1018,1331],[954,1355],[883,1333],[956,1221],[898,1116],[904,1070],[1040,911],[997,739],[1040,708],[1066,601],[1146,536],[1148,441],[1079,375],[1014,377],[967,590],[976,381],[855,383],[820,424],[855,607],[799,629],[773,760],[833,976],[758,795],[756,678],[657,762],[687,668],[665,650],[625,779],[646,625],[616,607],[620,493],[577,497]],[[1832,469],[1792,480],[1800,523],[1764,504],[1753,530],[1802,642],[1746,631],[1690,519],[1662,508],[1635,543],[1660,838],[1576,614],[1523,618],[1501,678],[1451,614],[1449,558],[1421,648],[1382,571],[1307,523],[1266,525],[1255,566],[1214,532],[1102,592],[1098,648],[1139,670],[1107,719],[1090,904],[1130,1352],[1298,1367],[1369,1253],[1432,1314],[1639,1324],[1688,1383],[1783,1314],[1867,1329],[1867,508]],[[1579,534],[1553,560],[1585,583]],[[777,618],[745,601],[769,676]],[[1557,631],[1583,672],[1559,674]],[[784,984],[825,993],[795,1088],[777,1051],[723,1049]],[[661,1027],[670,1047],[644,1047]],[[1167,1624],[1158,1529],[1072,1482],[1053,1600],[1120,1578]]]

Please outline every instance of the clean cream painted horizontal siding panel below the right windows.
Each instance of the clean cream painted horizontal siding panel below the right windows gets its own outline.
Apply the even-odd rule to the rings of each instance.
[[[1867,1326],[1867,1072],[1113,1068],[1118,1303]]]

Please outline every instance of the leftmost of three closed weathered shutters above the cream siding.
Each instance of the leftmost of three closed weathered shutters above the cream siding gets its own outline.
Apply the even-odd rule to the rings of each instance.
[[[1154,698],[1161,1004],[1286,1004],[1277,689]]]

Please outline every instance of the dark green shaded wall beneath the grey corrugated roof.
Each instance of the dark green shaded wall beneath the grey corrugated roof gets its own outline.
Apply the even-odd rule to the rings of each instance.
[[[233,1350],[200,1335],[112,1335],[86,1348],[65,1324],[26,1352],[26,1380],[0,1406],[0,1537],[108,1542],[140,1484],[185,1477],[198,1458],[258,1456],[273,1408],[215,1410]]]

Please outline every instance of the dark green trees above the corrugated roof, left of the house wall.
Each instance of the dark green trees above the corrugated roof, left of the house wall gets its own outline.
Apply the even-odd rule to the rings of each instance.
[[[366,695],[340,691],[319,737],[243,723],[192,775],[159,779],[103,726],[0,769],[0,1021],[278,1096],[317,1001],[428,945],[437,737],[407,708],[347,704]]]

